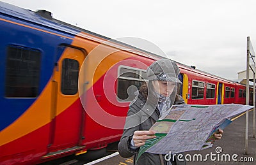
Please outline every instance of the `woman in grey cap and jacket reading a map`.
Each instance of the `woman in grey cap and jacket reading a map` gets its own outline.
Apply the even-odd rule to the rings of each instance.
[[[118,144],[122,157],[134,155],[134,164],[186,164],[186,162],[167,162],[161,154],[143,153],[136,161],[138,151],[145,141],[156,138],[150,127],[168,114],[173,104],[185,104],[184,99],[176,94],[180,82],[180,71],[175,62],[160,59],[147,68],[148,84],[141,86],[138,97],[129,106],[124,133]],[[215,134],[216,139],[223,133]]]

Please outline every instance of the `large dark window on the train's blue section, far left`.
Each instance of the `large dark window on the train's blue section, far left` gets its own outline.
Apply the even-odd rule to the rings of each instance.
[[[40,83],[41,53],[9,46],[6,59],[6,97],[36,97]]]

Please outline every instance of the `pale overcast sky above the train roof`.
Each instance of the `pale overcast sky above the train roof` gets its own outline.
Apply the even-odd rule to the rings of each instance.
[[[230,80],[246,69],[247,36],[256,49],[255,0],[2,1],[109,38],[145,39],[170,59]]]

